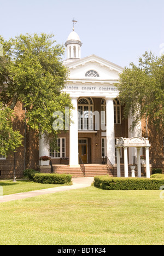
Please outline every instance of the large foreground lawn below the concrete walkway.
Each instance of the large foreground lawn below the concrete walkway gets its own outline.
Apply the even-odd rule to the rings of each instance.
[[[160,190],[95,187],[0,203],[0,245],[164,245]]]

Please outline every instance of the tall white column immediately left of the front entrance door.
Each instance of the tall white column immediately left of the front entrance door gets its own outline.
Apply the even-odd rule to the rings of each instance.
[[[69,130],[69,166],[79,167],[78,153],[78,97],[72,97],[71,102],[74,109],[72,110],[71,125]]]

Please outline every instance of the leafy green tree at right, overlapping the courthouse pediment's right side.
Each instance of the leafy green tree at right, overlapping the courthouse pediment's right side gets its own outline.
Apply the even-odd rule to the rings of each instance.
[[[124,117],[133,116],[133,127],[142,118],[161,130],[164,125],[164,56],[146,52],[138,66],[130,63],[120,74],[119,98],[125,105]]]

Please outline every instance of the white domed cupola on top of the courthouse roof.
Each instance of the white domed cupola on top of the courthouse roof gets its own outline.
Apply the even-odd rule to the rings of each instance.
[[[78,34],[73,31],[69,34],[67,42],[65,43],[67,47],[67,60],[75,61],[81,58],[81,40]]]

